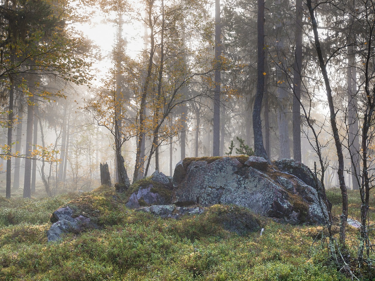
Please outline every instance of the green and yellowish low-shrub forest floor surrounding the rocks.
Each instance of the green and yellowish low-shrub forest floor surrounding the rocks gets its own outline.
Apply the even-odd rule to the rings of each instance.
[[[340,192],[327,194],[338,221]],[[358,191],[349,196],[349,216],[359,219]],[[225,222],[243,217],[244,208],[215,205],[201,215],[162,219],[127,209],[126,197],[103,187],[54,197],[0,197],[0,280],[349,280],[330,262],[322,226],[279,224],[253,214],[259,229],[240,236],[225,230]],[[100,227],[48,243],[51,213],[71,200],[81,202],[80,212]],[[374,207],[370,213],[374,222]],[[338,232],[338,226],[333,229]],[[374,241],[374,230],[369,234]],[[358,235],[348,227],[352,257]]]

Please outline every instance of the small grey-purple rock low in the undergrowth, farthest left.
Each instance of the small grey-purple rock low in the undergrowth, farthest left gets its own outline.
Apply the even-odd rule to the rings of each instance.
[[[72,217],[73,210],[70,207],[60,208],[54,211],[50,221],[53,223],[47,230],[48,242],[57,241],[62,235],[69,232],[80,232],[84,227],[90,225],[90,219],[82,215]]]

